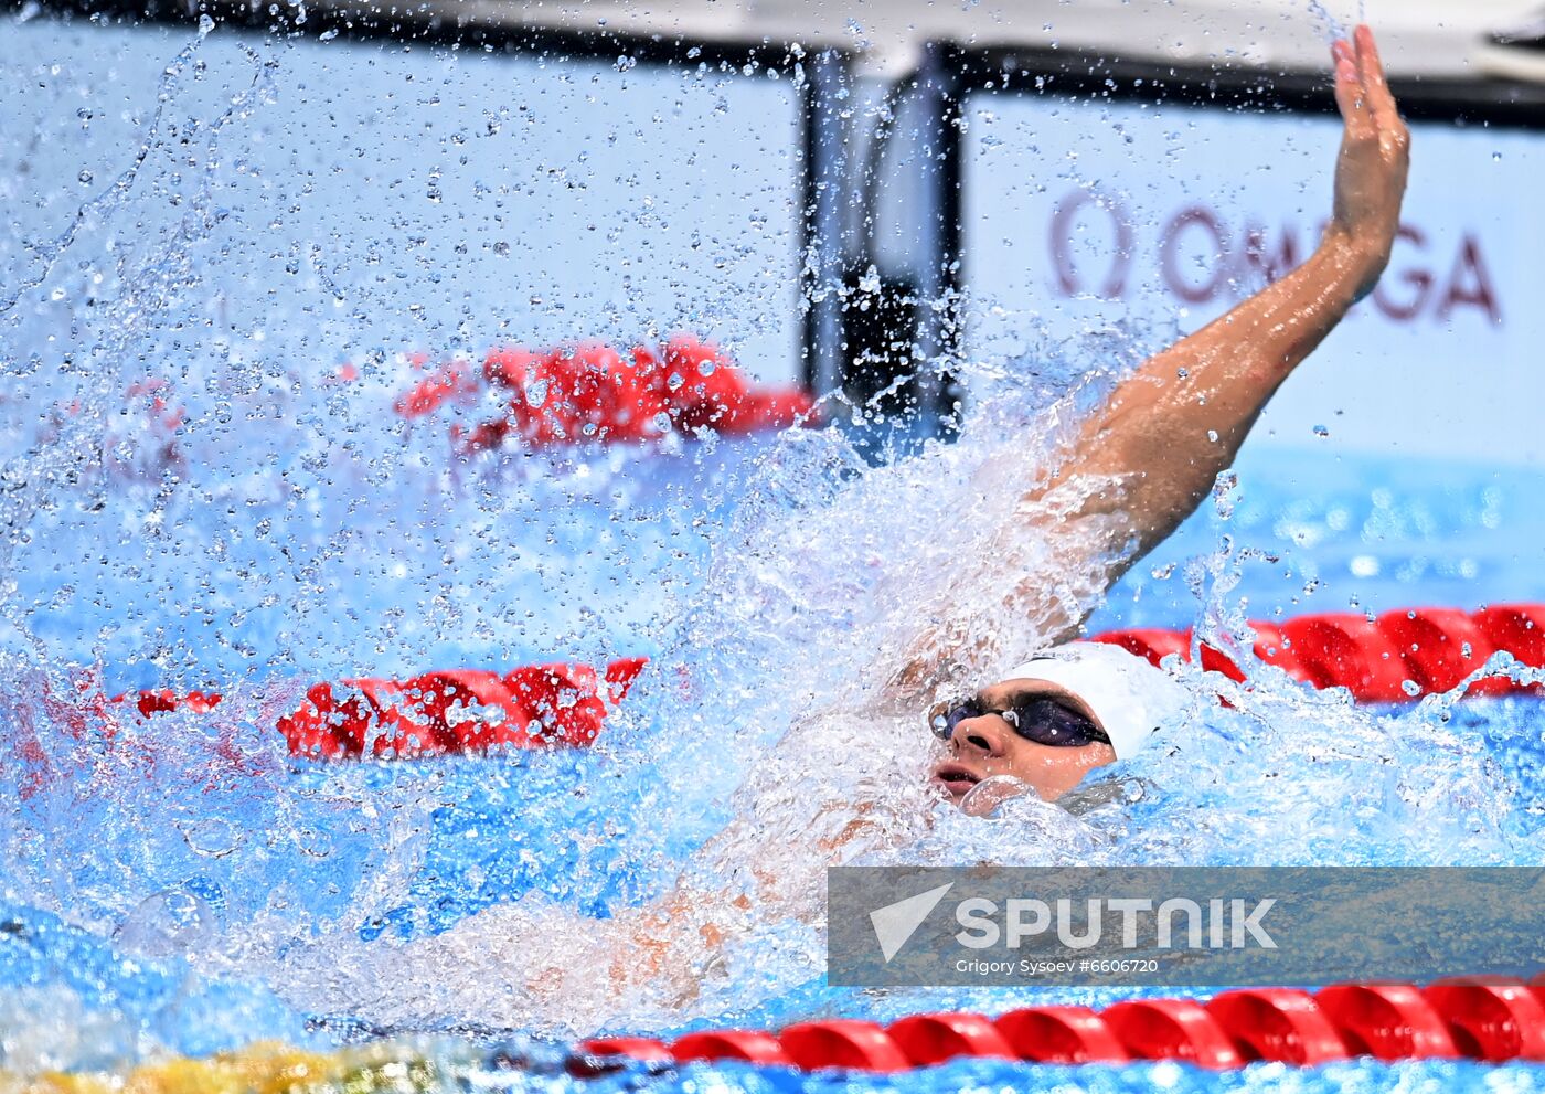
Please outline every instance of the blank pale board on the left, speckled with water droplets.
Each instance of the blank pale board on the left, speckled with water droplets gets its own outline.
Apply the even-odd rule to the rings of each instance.
[[[218,28],[179,66],[156,127],[165,70],[195,39],[0,22],[0,298],[151,134],[134,216],[159,206],[142,201],[154,190],[192,210],[209,182],[212,223],[185,241],[201,318],[232,338],[264,335],[266,352],[283,341],[303,375],[371,346],[626,349],[686,331],[765,383],[800,380],[791,70],[720,68],[686,45],[667,68]],[[207,162],[210,127],[243,96]],[[164,246],[161,227],[107,232],[142,252]],[[85,261],[110,266],[108,250]],[[43,290],[57,280],[74,292],[79,261],[49,270]]]

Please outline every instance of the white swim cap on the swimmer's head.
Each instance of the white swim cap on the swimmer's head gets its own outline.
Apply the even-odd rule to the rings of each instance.
[[[1176,722],[1190,703],[1190,692],[1168,672],[1100,641],[1057,646],[1004,678],[1044,680],[1082,698],[1119,760],[1137,753],[1162,725]]]

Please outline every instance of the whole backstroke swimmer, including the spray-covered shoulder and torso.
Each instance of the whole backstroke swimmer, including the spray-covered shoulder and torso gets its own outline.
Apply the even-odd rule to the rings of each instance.
[[[726,967],[728,946],[759,922],[822,921],[827,865],[907,845],[939,799],[972,814],[1026,793],[1065,799],[1091,771],[1129,759],[1176,717],[1188,695],[1180,683],[1122,649],[1077,641],[1085,609],[1048,604],[1088,603],[1168,536],[1230,467],[1278,386],[1372,290],[1387,264],[1409,136],[1369,29],[1360,26],[1352,40],[1336,42],[1332,56],[1344,130],[1319,247],[1125,379],[1055,470],[1023,494],[1017,513],[1027,524],[1004,532],[1004,552],[1012,549],[1010,535],[1015,542],[1026,533],[1057,542],[1086,518],[1119,533],[1119,549],[1078,578],[1080,595],[1052,595],[1048,581],[1074,579],[1063,572],[1006,579],[1000,600],[1023,621],[1020,630],[1034,624],[1046,638],[1046,652],[986,686],[978,677],[978,686],[955,691],[976,664],[992,663],[992,651],[984,649],[981,620],[933,621],[901,669],[856,683],[842,709],[794,719],[777,749],[808,760],[799,777],[788,777],[788,765],[754,771],[737,791],[734,820],[672,892],[643,907],[615,909],[609,919],[542,902],[480,912],[414,944],[423,975],[409,983],[425,1000],[447,1001],[383,1001],[382,1014],[422,1015],[425,1007],[454,1014],[443,970],[467,967],[484,981],[497,978],[494,1012],[482,1015],[488,1021],[587,1034],[618,1014],[661,1007],[671,1015],[663,1024],[672,1024],[705,981]],[[998,579],[1012,572],[1009,558],[967,558],[964,566],[992,564]],[[1075,569],[1072,561],[1061,567]],[[865,746],[878,734],[902,732],[899,726],[910,736],[887,740],[902,742],[895,751]],[[907,751],[913,739],[936,749],[925,787],[916,779],[924,765],[899,773],[891,760],[876,762]],[[898,787],[916,790],[908,796]],[[338,1003],[358,1009],[363,1000],[380,998],[383,984],[402,983],[405,956],[392,958],[391,975],[372,972],[366,955],[357,964],[340,963],[360,977],[332,980]]]

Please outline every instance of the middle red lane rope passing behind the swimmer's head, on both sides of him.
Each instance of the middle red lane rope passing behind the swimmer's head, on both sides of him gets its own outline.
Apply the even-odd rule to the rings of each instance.
[[[1255,657],[1313,688],[1346,688],[1363,703],[1401,703],[1458,688],[1488,658],[1506,651],[1525,668],[1545,668],[1545,604],[1397,609],[1377,618],[1357,613],[1302,615],[1285,623],[1255,621]],[[1092,637],[1159,664],[1191,658],[1190,630],[1128,629]],[[1204,671],[1245,681],[1244,658],[1199,643]],[[511,672],[445,669],[406,680],[354,678],[312,685],[304,702],[277,728],[289,753],[309,760],[408,760],[522,748],[584,748],[595,742],[607,711],[623,700],[646,658],[586,664],[535,664]],[[1537,691],[1508,675],[1471,681],[1466,695]],[[138,711],[204,712],[221,695],[141,691],[114,695],[105,717]]]

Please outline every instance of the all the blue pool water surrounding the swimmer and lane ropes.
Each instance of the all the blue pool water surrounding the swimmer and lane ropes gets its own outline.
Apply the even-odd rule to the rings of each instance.
[[[1540,859],[1537,698],[1363,711],[1267,671],[1230,695],[1233,709],[1199,703],[1166,728],[1170,748],[1102,774],[1111,793],[1082,813],[1020,799],[993,819],[929,804],[916,712],[871,706],[885,666],[916,649],[919,618],[967,620],[984,646],[959,674],[984,677],[1089,609],[1091,629],[1217,634],[1315,610],[1545,600],[1536,470],[1375,457],[1335,437],[1247,448],[1236,482],[1102,598],[1120,528],[1027,535],[1015,499],[1051,459],[1051,408],[1080,400],[1068,377],[1122,357],[1109,340],[1015,363],[1009,379],[967,369],[976,399],[950,445],[876,451],[854,442],[865,431],[833,426],[467,462],[448,417],[409,426],[392,414],[411,379],[392,352],[345,385],[250,332],[202,332],[221,277],[204,247],[215,206],[195,201],[205,219],[108,263],[114,224],[159,210],[176,185],[167,176],[97,210],[99,230],[70,244],[87,267],[113,266],[100,301],[19,284],[0,315],[0,360],[19,380],[0,403],[9,1069],[119,1068],[267,1037],[553,1041],[1117,995],[825,986],[819,841],[833,816],[853,817],[861,783],[908,836],[862,847],[868,862]],[[187,182],[201,201],[212,185]],[[1151,348],[1128,340],[1125,355]],[[1332,338],[1310,368],[1336,363]],[[184,408],[176,430],[130,394],[147,372]],[[1006,604],[1004,583],[1024,576],[1026,595]],[[317,680],[624,654],[654,660],[589,753],[312,765],[272,729]],[[1210,697],[1211,683],[1187,680]],[[145,686],[216,688],[226,702],[145,722],[99,702]],[[604,967],[609,932],[635,929],[660,893],[739,884],[745,862],[774,879],[771,896],[691,990],[661,977],[609,994],[604,975],[581,975],[545,995],[528,981]],[[691,924],[660,933],[672,955],[691,953]],[[726,1065],[603,1086],[839,1082],[913,1094],[1531,1089],[1545,1069],[956,1062],[837,1080]]]

